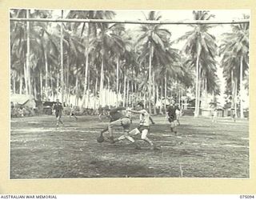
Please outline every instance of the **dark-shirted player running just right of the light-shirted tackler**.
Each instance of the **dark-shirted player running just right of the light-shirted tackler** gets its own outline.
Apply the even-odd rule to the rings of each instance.
[[[175,135],[177,135],[177,115],[176,110],[179,110],[178,106],[175,105],[174,99],[171,100],[170,105],[167,107],[166,110],[166,117],[168,118],[168,121],[170,122],[170,131],[174,132]]]

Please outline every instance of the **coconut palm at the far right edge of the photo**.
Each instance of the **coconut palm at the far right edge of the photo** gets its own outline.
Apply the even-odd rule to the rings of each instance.
[[[243,18],[249,18],[244,15]],[[220,53],[222,55],[222,67],[227,86],[231,87],[235,114],[237,114],[237,94],[240,88],[240,117],[243,118],[242,96],[244,88],[242,79],[249,68],[249,24],[232,25],[232,32],[223,34]],[[231,84],[230,84],[231,83]]]

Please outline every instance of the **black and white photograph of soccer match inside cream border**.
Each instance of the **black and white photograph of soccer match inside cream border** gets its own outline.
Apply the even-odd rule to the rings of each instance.
[[[250,10],[10,8],[10,179],[249,179]]]

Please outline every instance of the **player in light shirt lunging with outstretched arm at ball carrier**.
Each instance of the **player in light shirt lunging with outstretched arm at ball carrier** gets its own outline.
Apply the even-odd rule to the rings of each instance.
[[[149,138],[147,138],[147,134],[150,131],[150,122],[152,122],[153,124],[154,122],[152,118],[150,118],[150,114],[144,109],[143,103],[138,102],[138,110],[130,110],[130,112],[134,114],[140,114],[140,122],[138,128],[131,130],[129,134],[142,134],[142,140],[150,144],[150,149],[157,150],[158,148],[154,146],[153,142]],[[138,146],[136,147],[139,148]]]

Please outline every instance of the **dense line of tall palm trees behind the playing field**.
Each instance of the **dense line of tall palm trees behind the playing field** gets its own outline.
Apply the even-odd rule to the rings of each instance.
[[[10,11],[12,18],[52,18],[52,14],[51,10]],[[208,11],[193,15],[195,20],[214,18]],[[114,16],[109,10],[70,10],[65,18]],[[146,16],[146,20],[161,18],[154,11]],[[227,94],[236,108],[237,95],[245,90],[240,80],[249,68],[249,25],[232,26],[221,46],[209,33],[211,28],[193,25],[178,39],[186,42],[184,50],[178,50],[171,31],[160,24],[129,30],[114,23],[10,22],[11,90],[45,101],[58,97],[81,107],[127,106],[143,100],[154,113],[158,101],[161,110],[165,106],[162,97],[173,96],[180,102],[192,90],[198,116],[202,94],[219,94],[216,57],[220,56]]]

